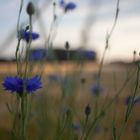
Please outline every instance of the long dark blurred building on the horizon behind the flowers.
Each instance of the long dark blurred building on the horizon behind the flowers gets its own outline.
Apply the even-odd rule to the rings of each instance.
[[[96,61],[96,52],[91,50],[66,50],[66,49],[31,49],[30,61],[41,61],[41,60],[59,60],[59,61],[74,61],[74,60],[89,60]]]

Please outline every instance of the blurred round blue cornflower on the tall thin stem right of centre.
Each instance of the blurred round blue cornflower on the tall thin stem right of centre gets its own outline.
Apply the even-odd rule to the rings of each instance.
[[[98,96],[101,92],[102,92],[102,87],[99,85],[99,84],[94,84],[92,87],[91,87],[91,92],[93,95],[96,95]]]

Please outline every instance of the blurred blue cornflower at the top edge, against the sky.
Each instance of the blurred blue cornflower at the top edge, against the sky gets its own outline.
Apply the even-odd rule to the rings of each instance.
[[[64,9],[65,12],[74,10],[77,7],[74,2],[66,3],[64,0],[60,0],[60,6]]]

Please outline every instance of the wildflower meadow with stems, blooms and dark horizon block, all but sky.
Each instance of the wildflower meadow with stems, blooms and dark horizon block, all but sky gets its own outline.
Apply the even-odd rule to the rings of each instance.
[[[15,59],[0,62],[0,140],[140,140],[137,52],[132,52],[129,63],[104,63],[120,0],[100,61],[95,52],[86,50],[87,37],[76,51],[64,40],[59,60],[53,43],[60,19],[78,5],[69,0],[50,3],[50,32],[43,49],[31,52],[41,37],[33,28],[39,9],[29,1],[24,11],[24,0],[20,1]],[[57,14],[57,8],[62,14]],[[28,17],[25,26],[22,12]]]

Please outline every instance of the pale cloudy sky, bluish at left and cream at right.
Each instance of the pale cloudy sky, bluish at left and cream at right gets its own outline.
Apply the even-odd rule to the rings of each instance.
[[[69,41],[73,49],[84,46],[85,49],[95,50],[100,60],[105,47],[106,34],[111,30],[114,21],[117,0],[71,1],[77,4],[77,8],[61,16],[63,9],[56,0],[56,14],[61,20],[56,28],[53,44],[63,47],[65,42]],[[28,25],[26,14],[28,2],[24,0],[20,21],[22,28]],[[33,42],[33,46],[43,46],[50,33],[52,1],[32,0],[32,2],[41,13],[40,18],[33,24],[33,30],[40,33],[40,39]],[[0,57],[15,55],[19,6],[19,0],[0,0]],[[139,0],[120,0],[119,9],[118,21],[110,38],[106,61],[131,61],[133,51],[136,50],[138,53],[140,51],[140,2]],[[139,58],[138,55],[137,57]]]

